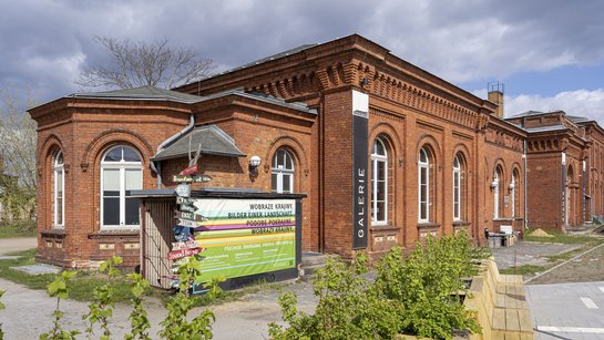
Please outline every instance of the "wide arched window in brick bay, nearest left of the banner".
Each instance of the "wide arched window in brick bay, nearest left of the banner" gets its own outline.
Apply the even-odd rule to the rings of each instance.
[[[112,147],[101,161],[101,225],[139,227],[139,200],[131,190],[143,188],[141,156],[124,145]]]

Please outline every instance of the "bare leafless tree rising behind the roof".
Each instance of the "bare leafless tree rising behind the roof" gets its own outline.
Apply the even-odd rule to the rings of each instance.
[[[206,78],[215,66],[211,59],[199,56],[191,47],[168,47],[167,38],[151,43],[108,37],[95,37],[95,41],[106,49],[111,64],[85,68],[75,81],[81,86],[171,89]]]

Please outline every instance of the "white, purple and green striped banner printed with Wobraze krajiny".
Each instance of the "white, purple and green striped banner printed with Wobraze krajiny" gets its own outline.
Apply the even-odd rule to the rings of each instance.
[[[202,279],[296,268],[296,200],[204,198],[207,220],[195,221],[195,241],[206,248]]]

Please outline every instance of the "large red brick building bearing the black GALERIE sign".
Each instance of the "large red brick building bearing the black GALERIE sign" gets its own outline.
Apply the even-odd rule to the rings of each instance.
[[[538,154],[539,132],[522,117],[502,120],[502,94],[490,95],[477,97],[355,34],[174,91],[58,99],[30,111],[39,124],[38,259],[80,267],[119,254],[136,265],[140,221],[130,192],[173,188],[190,135],[203,140],[199,166],[214,178],[197,186],[308,195],[304,251],[379,256],[429,234],[465,229],[484,244],[484,228],[522,230],[526,205],[541,204],[526,202],[525,187],[532,175],[547,178],[525,157],[526,145]],[[595,123],[566,121],[584,140],[602,138]],[[579,138],[565,141],[575,147]],[[581,150],[567,157],[584,159]],[[257,176],[253,156],[262,161]],[[579,206],[576,162],[569,178]],[[602,175],[590,176],[590,187],[602,190]],[[590,213],[601,212],[602,199],[591,202]],[[582,223],[572,216],[570,224]]]

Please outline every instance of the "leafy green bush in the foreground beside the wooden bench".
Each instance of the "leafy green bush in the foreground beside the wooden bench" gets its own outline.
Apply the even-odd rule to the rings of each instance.
[[[351,264],[329,259],[313,281],[319,303],[314,315],[299,312],[295,293],[279,298],[288,327],[269,323],[275,339],[391,339],[407,333],[451,339],[453,329],[480,332],[463,307],[462,279],[473,276],[477,260],[465,234],[428,238],[403,255],[393,248],[377,265],[377,278],[368,279],[367,256]]]

